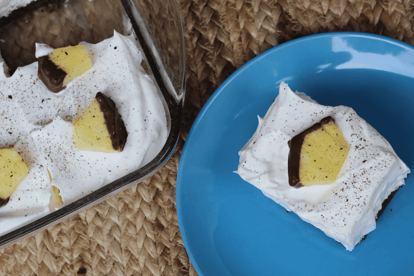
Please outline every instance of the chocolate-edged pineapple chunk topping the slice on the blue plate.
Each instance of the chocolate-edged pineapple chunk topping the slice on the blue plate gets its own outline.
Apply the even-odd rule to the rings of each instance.
[[[294,136],[288,145],[292,187],[332,184],[349,152],[347,141],[331,116]]]

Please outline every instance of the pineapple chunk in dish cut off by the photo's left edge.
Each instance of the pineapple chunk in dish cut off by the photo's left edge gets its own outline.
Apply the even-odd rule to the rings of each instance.
[[[0,207],[26,177],[29,169],[14,149],[0,149]]]

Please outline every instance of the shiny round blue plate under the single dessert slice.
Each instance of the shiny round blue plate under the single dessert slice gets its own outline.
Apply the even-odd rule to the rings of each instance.
[[[178,223],[200,276],[413,275],[409,175],[352,252],[265,197],[234,170],[284,80],[323,105],[350,106],[414,169],[414,47],[361,33],[307,36],[247,62],[209,98],[177,176]]]

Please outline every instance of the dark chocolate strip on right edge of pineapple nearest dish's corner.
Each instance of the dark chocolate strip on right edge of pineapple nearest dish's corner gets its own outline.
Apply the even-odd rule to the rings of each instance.
[[[101,112],[103,113],[106,128],[111,135],[113,149],[116,151],[122,151],[124,149],[128,133],[124,122],[118,113],[118,109],[115,107],[115,103],[101,92],[96,93],[95,98],[99,103]]]

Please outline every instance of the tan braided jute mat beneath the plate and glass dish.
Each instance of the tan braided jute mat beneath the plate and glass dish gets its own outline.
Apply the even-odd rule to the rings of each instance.
[[[151,178],[0,250],[0,275],[197,275],[178,227],[175,188],[184,141],[209,96],[255,55],[301,36],[361,31],[414,44],[413,5],[412,0],[180,0],[187,89],[176,151]]]

